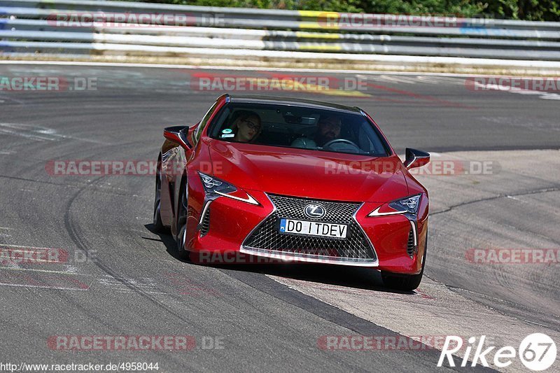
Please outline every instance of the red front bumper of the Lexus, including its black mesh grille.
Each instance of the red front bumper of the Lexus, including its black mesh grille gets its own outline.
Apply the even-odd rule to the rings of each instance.
[[[295,235],[286,238],[286,234],[276,231],[276,221],[280,217],[304,218],[300,205],[314,200],[248,192],[259,206],[219,197],[204,209],[202,190],[189,191],[191,209],[186,249],[193,252],[195,258],[197,254],[201,258],[225,258],[209,253],[238,252],[277,262],[375,267],[402,274],[417,274],[421,270],[428,218],[426,196],[422,198],[417,218],[405,215],[368,217],[368,213],[381,205],[372,202],[316,201],[331,211],[325,221],[349,225],[349,238],[340,240]]]

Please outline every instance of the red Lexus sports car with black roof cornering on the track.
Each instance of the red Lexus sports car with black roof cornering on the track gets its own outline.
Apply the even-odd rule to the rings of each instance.
[[[413,290],[426,261],[428,192],[357,107],[281,97],[218,97],[191,127],[168,127],[154,227],[181,256],[256,257],[374,267]]]

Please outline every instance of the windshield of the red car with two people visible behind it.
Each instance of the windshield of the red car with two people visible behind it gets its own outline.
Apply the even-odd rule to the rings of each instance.
[[[359,113],[274,104],[225,106],[209,128],[212,139],[384,157],[387,145]]]

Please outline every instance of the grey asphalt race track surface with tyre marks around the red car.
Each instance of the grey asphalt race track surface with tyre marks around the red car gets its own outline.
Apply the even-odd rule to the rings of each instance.
[[[559,345],[558,262],[477,266],[465,253],[558,253],[560,92],[479,91],[461,76],[282,73],[365,82],[350,93],[270,93],[360,106],[398,153],[412,147],[435,153],[433,160],[499,165],[486,175],[419,176],[432,204],[426,276],[417,291],[398,293],[371,269],[183,262],[172,237],[151,230],[153,176],[52,175],[53,160],[155,160],[162,129],[196,123],[222,93],[193,84],[201,74],[275,76],[0,64],[1,77],[69,82],[59,90],[0,90],[0,250],[67,254],[58,262],[2,259],[1,363],[158,363],[158,372],[463,372],[482,367],[437,368],[437,349],[331,351],[323,342],[325,336],[487,334],[499,347],[542,332]],[[79,89],[83,81],[89,89]],[[53,342],[93,335],[189,336],[195,344],[188,351],[64,351]],[[528,371],[519,361],[498,370]]]

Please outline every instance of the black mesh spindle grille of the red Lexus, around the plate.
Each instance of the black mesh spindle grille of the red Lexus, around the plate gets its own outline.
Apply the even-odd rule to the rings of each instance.
[[[306,258],[309,261],[341,262],[342,264],[374,265],[377,255],[360,225],[353,218],[361,204],[268,195],[276,207],[245,239],[243,249],[255,255],[283,255],[286,258]],[[346,239],[281,234],[280,218],[312,220],[304,215],[309,203],[321,204],[326,215],[318,221],[348,225]]]

